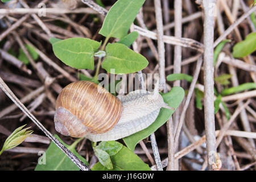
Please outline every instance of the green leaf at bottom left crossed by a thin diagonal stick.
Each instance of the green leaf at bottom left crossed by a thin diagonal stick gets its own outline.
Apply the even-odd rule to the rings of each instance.
[[[64,144],[74,155],[77,156],[83,163],[88,165],[88,162],[76,152],[76,144],[69,146],[65,144],[57,135],[55,137]],[[46,164],[37,164],[35,171],[80,171],[79,167],[68,158],[67,155],[56,146],[55,143],[51,142],[45,153]]]

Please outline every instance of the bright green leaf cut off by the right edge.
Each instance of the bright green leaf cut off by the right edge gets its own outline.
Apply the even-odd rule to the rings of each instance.
[[[256,32],[253,32],[246,36],[245,40],[237,43],[233,47],[234,57],[244,57],[253,53],[256,50]]]

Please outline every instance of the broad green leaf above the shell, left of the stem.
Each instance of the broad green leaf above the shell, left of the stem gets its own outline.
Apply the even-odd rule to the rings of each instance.
[[[69,38],[52,44],[56,57],[70,67],[94,69],[94,52],[101,43],[86,38]]]

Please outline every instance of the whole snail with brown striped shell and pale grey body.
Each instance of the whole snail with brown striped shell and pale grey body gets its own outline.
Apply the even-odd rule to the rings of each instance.
[[[72,82],[57,97],[55,129],[93,142],[117,140],[146,129],[161,107],[173,109],[164,103],[158,89],[135,90],[115,97],[94,82]]]

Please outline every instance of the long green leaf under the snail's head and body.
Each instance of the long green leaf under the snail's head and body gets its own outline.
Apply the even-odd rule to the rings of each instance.
[[[174,107],[176,110],[184,98],[184,90],[179,86],[175,86],[170,90],[170,92],[164,93],[162,96],[164,102],[166,102],[169,106]],[[165,108],[160,109],[158,117],[150,126],[142,131],[130,135],[129,137],[123,138],[126,146],[131,151],[134,151],[136,144],[162,126],[171,117],[172,113],[174,113],[174,110]]]

